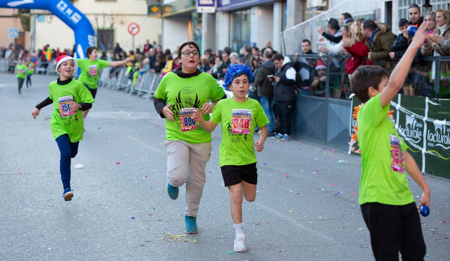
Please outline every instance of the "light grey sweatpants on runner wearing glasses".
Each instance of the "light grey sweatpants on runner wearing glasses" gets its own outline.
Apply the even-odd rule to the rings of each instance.
[[[183,140],[166,140],[167,181],[180,187],[186,183],[187,216],[197,216],[206,183],[205,166],[211,157],[211,142],[189,144]]]

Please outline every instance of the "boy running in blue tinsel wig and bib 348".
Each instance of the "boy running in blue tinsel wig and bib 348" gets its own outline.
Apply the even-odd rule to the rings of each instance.
[[[209,121],[205,121],[199,109],[192,117],[208,132],[212,132],[221,122],[219,162],[231,201],[230,212],[236,236],[233,250],[236,252],[247,250],[242,223],[242,200],[245,197],[248,202],[255,201],[258,178],[255,149],[258,152],[263,150],[267,138],[266,124],[269,123],[261,104],[246,97],[252,81],[253,73],[249,66],[238,63],[229,65],[223,87],[232,91],[233,97],[220,100],[212,109]],[[261,130],[260,139],[253,142],[256,126]]]

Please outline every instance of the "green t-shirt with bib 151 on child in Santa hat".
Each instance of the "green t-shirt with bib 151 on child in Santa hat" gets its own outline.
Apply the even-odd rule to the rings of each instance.
[[[70,111],[69,103],[93,103],[94,98],[89,90],[80,82],[72,79],[66,85],[58,85],[53,81],[49,85],[49,98],[53,100],[54,110],[50,127],[53,138],[68,134],[71,142],[83,139],[83,114],[81,110]]]

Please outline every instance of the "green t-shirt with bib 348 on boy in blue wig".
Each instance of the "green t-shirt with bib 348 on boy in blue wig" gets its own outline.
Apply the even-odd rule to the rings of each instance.
[[[255,127],[269,123],[257,100],[248,98],[243,103],[236,102],[233,98],[220,100],[212,109],[211,121],[215,124],[221,122],[220,166],[241,166],[257,162],[253,147]]]

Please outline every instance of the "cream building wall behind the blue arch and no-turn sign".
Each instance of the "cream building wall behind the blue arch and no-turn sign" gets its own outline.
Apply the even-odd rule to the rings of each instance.
[[[146,0],[117,0],[117,2],[79,0],[74,5],[86,15],[94,30],[109,29],[113,21],[114,45],[118,42],[126,51],[131,49],[132,36],[127,31],[130,23],[137,23],[140,26],[140,31],[135,36],[135,48],[142,49],[147,39],[150,42],[157,41],[158,35],[161,34],[161,18],[147,16]],[[75,41],[72,29],[56,16],[53,16],[50,23],[47,21],[48,16],[45,22],[36,22],[36,48],[49,44],[54,48],[72,49]]]

